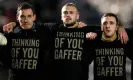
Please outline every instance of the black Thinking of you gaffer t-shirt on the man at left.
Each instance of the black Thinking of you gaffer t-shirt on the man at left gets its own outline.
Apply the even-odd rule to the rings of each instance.
[[[7,34],[9,80],[49,80],[49,29],[17,29]]]

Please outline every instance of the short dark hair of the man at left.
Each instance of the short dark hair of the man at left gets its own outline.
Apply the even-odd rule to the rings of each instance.
[[[22,9],[31,9],[31,10],[33,11],[33,14],[35,14],[34,7],[33,7],[31,4],[27,3],[27,2],[20,3],[20,4],[18,5],[17,14],[18,14],[19,11],[22,10]]]

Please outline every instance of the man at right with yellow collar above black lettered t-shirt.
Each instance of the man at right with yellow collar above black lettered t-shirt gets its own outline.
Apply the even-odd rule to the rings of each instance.
[[[88,59],[94,60],[94,80],[126,80],[125,64],[129,46],[118,40],[118,25],[119,20],[115,14],[103,15],[102,31],[98,32],[94,41],[88,41],[88,45],[92,45],[88,49],[92,51],[93,57],[88,56]]]

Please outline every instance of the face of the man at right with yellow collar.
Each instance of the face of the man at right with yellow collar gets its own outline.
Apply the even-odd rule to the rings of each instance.
[[[101,28],[106,37],[112,37],[117,30],[117,22],[115,17],[107,16],[101,20]]]

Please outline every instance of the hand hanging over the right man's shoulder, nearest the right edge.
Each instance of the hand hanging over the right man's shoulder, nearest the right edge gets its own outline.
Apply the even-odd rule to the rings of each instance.
[[[118,29],[118,39],[121,40],[122,44],[126,44],[127,41],[129,40],[128,34],[127,34],[127,32],[125,31],[124,28],[119,28]]]

